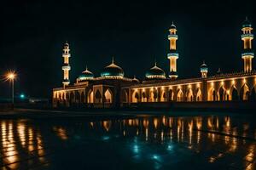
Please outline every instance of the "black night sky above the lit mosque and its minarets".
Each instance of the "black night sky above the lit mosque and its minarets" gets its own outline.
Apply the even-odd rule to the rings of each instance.
[[[0,72],[15,69],[15,93],[49,97],[61,87],[62,45],[71,47],[71,80],[88,65],[96,76],[112,56],[126,77],[144,77],[154,58],[166,73],[172,20],[177,26],[179,77],[241,71],[241,22],[255,25],[253,1],[4,1],[0,6]],[[253,63],[255,63],[253,61]],[[255,68],[255,67],[254,67]],[[9,83],[0,83],[8,97]]]

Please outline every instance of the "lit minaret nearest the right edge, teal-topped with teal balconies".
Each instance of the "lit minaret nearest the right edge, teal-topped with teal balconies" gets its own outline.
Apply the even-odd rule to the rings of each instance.
[[[252,49],[253,27],[247,18],[242,23],[241,31],[241,40],[243,41],[243,48],[241,54],[241,59],[243,59],[243,71],[250,72],[252,71],[252,60],[254,57]]]

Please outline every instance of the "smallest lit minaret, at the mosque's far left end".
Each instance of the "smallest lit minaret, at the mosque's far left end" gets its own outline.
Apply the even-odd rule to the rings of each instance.
[[[64,64],[62,66],[62,70],[63,70],[63,87],[65,88],[70,82],[69,82],[69,71],[70,71],[70,65],[69,65],[69,45],[66,42],[64,44],[64,48],[63,48],[63,54],[62,57],[64,59]]]

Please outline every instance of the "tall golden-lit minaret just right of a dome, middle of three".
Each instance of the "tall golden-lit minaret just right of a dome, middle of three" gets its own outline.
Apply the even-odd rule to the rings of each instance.
[[[170,34],[168,35],[168,39],[170,40],[170,53],[167,54],[168,59],[170,59],[169,77],[171,78],[171,80],[175,80],[177,78],[178,53],[177,53],[177,47],[176,47],[177,29],[176,29],[176,26],[174,26],[173,22],[169,31],[170,31]]]

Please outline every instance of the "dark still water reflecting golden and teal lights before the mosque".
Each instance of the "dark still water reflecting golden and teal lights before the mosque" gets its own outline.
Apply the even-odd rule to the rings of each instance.
[[[253,116],[0,120],[0,169],[254,169]]]

